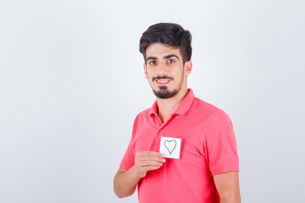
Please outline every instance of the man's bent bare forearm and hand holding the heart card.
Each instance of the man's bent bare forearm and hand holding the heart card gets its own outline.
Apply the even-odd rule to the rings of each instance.
[[[114,176],[114,193],[117,197],[131,196],[141,178],[147,171],[160,168],[165,159],[163,154],[155,151],[139,151],[135,154],[134,166],[128,170],[119,168]]]

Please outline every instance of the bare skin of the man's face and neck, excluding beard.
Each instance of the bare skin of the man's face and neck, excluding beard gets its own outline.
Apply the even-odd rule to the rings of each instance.
[[[152,80],[152,78],[155,78],[158,75],[173,78],[173,80],[170,80],[169,84],[166,85],[169,91],[177,89],[182,82],[181,90],[174,97],[168,99],[156,98],[158,103],[158,116],[161,121],[164,122],[178,108],[181,101],[189,92],[187,87],[187,76],[191,74],[192,63],[191,61],[186,61],[183,64],[179,49],[166,47],[161,43],[153,43],[148,46],[146,55],[147,62],[146,64],[143,64],[144,74],[153,90],[159,91],[160,84],[158,84],[156,80]],[[166,56],[170,55],[175,56],[166,58]]]

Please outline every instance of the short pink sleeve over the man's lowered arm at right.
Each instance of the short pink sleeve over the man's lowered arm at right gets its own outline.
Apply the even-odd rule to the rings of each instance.
[[[211,118],[204,139],[204,152],[212,175],[239,171],[237,145],[229,116],[222,110]]]

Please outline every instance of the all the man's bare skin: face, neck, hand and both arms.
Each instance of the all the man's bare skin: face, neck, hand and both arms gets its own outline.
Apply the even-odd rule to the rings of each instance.
[[[167,99],[156,97],[158,104],[158,117],[162,122],[178,108],[181,101],[188,94],[187,76],[191,74],[192,63],[183,63],[179,49],[164,46],[161,43],[153,43],[146,49],[147,62],[143,64],[144,74],[152,89],[162,91],[160,86],[167,86],[168,91],[179,92]],[[172,79],[155,79],[164,76]],[[160,81],[169,82],[165,84]],[[159,81],[159,82],[158,82]],[[136,185],[146,172],[157,170],[163,166],[166,160],[163,154],[154,151],[139,151],[135,154],[134,166],[128,170],[119,168],[114,177],[114,193],[123,198],[132,195]],[[230,171],[214,176],[214,183],[220,196],[220,203],[240,203],[240,191],[238,172]]]

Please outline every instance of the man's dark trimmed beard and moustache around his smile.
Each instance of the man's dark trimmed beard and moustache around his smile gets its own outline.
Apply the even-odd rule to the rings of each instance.
[[[169,99],[169,98],[174,97],[182,89],[182,84],[183,84],[183,80],[184,80],[183,76],[184,75],[182,74],[181,80],[180,80],[179,85],[176,89],[174,89],[172,91],[169,91],[167,86],[159,86],[158,90],[154,90],[152,88],[152,92],[154,93],[154,95],[156,97],[158,97],[160,99]],[[154,81],[155,79],[171,79],[171,80],[174,80],[172,77],[169,77],[169,76],[166,76],[166,75],[154,77],[154,78],[152,78],[152,81]]]

